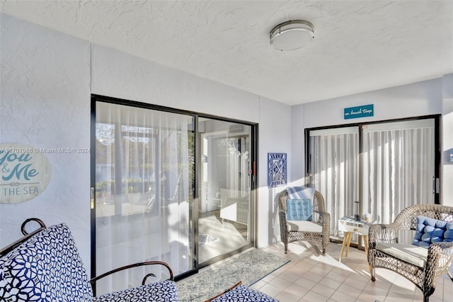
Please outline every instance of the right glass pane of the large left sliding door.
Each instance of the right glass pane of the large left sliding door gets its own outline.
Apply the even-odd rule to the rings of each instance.
[[[252,245],[251,125],[200,118],[199,262]]]

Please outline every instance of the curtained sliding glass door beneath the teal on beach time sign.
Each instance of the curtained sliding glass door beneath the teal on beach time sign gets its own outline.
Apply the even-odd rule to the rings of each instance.
[[[307,130],[309,184],[326,200],[331,235],[342,235],[338,219],[354,214],[354,201],[361,214],[391,223],[406,206],[438,200],[437,124],[425,118]]]

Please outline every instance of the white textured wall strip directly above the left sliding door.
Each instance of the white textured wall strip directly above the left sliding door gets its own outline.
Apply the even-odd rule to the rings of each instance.
[[[258,122],[259,97],[93,45],[93,94]]]

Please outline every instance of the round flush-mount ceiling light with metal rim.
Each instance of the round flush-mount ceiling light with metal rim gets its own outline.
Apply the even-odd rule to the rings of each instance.
[[[309,21],[287,21],[270,30],[270,44],[277,50],[297,50],[313,39],[314,28]]]

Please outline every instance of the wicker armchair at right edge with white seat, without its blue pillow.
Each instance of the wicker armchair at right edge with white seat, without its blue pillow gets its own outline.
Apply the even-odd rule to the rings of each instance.
[[[401,230],[415,230],[417,217],[453,222],[453,207],[435,204],[408,206],[398,214],[394,223],[374,224],[369,228],[368,263],[371,279],[376,280],[377,267],[390,269],[411,281],[423,291],[424,301],[435,291],[436,276],[448,274],[453,258],[453,242],[431,243],[428,249],[398,243]]]

